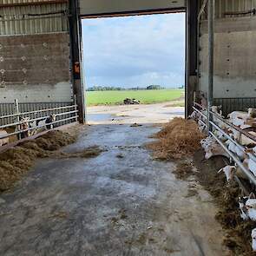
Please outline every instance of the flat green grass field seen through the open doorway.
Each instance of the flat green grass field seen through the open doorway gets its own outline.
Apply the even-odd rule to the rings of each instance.
[[[95,105],[117,105],[125,98],[136,99],[143,104],[156,102],[171,102],[181,98],[184,89],[159,89],[159,90],[123,90],[123,91],[89,91],[87,103]]]

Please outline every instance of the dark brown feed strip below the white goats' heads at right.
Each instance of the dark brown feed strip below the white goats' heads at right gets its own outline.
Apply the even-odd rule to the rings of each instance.
[[[194,164],[198,169],[194,175],[196,180],[213,196],[214,202],[219,207],[215,218],[226,230],[223,244],[231,251],[231,255],[255,255],[251,248],[251,231],[256,227],[256,223],[240,218],[238,203],[240,187],[235,182],[227,186],[225,174],[217,173],[219,168],[226,165],[221,157],[201,161],[202,154],[202,151],[194,154]]]

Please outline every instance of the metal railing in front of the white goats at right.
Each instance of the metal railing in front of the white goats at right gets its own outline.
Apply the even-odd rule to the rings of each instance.
[[[200,108],[200,109],[198,109]],[[205,121],[200,120],[200,123],[208,128],[208,134],[213,136],[213,138],[220,144],[220,147],[223,148],[226,153],[230,156],[230,158],[238,165],[238,167],[240,167],[240,169],[243,171],[244,174],[246,174],[247,178],[249,179],[249,181],[253,182],[253,184],[256,186],[256,176],[248,169],[246,168],[242,161],[240,161],[240,158],[234,154],[233,152],[231,152],[225,145],[225,143],[223,143],[223,141],[220,140],[220,138],[218,138],[217,135],[214,135],[213,130],[211,130],[209,128],[209,125],[212,126],[212,128],[214,130],[218,130],[222,135],[224,135],[226,137],[226,141],[231,141],[233,144],[235,144],[245,155],[247,155],[248,158],[250,158],[251,160],[253,160],[256,164],[256,156],[254,154],[251,154],[249,152],[246,152],[246,148],[243,147],[242,145],[240,145],[240,143],[238,141],[235,141],[230,135],[228,135],[222,128],[220,128],[214,121],[208,121],[208,115],[213,115],[214,118],[217,118],[219,121],[224,122],[229,128],[233,128],[235,130],[237,130],[240,134],[245,135],[247,138],[251,139],[252,141],[255,141],[256,144],[256,137],[247,133],[245,130],[233,125],[233,123],[231,123],[230,121],[227,121],[226,119],[222,118],[220,115],[217,115],[216,113],[213,113],[213,111],[209,111],[207,109],[204,109],[200,104],[194,102],[194,107],[193,107],[194,111],[196,111]],[[207,115],[202,113],[202,110],[207,112]],[[207,122],[209,122],[209,124],[207,124]]]

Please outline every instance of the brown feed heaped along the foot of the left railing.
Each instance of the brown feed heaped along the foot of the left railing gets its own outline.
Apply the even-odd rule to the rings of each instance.
[[[91,158],[102,153],[102,149],[97,146],[71,154],[58,151],[75,140],[76,135],[55,130],[3,151],[0,154],[0,191],[8,190],[16,181],[20,181],[38,158]]]

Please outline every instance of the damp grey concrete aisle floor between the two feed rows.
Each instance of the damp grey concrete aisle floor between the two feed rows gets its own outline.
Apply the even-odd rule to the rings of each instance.
[[[162,109],[166,120],[179,110]],[[159,129],[154,118],[137,117],[145,124],[132,128],[127,116],[113,121],[119,110],[104,119],[108,110],[98,108],[104,118],[65,148],[99,145],[100,156],[37,161],[0,196],[0,255],[224,255],[211,197],[195,181],[177,181],[174,163],[153,161],[141,147]],[[188,187],[199,194],[187,197]]]

